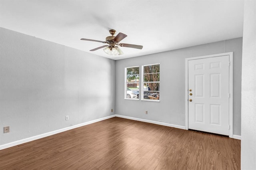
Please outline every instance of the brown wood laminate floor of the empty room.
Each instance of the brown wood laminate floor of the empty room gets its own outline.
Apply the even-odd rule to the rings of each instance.
[[[240,140],[114,117],[0,150],[11,169],[240,169]]]

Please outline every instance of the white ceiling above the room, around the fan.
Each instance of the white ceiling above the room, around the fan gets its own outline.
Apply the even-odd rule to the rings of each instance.
[[[124,59],[242,37],[244,0],[0,0],[0,27],[111,59]],[[99,42],[128,35],[124,55]]]

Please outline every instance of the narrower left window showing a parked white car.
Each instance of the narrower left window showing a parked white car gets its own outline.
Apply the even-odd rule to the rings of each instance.
[[[140,67],[127,67],[125,99],[139,99]]]

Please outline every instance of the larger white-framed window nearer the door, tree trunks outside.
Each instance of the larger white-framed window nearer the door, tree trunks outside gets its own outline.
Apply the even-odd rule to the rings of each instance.
[[[142,99],[159,100],[160,64],[143,65]]]

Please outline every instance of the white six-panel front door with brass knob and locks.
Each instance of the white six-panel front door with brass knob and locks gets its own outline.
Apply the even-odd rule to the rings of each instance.
[[[229,55],[188,61],[188,128],[229,135]]]

